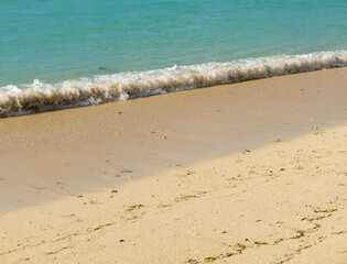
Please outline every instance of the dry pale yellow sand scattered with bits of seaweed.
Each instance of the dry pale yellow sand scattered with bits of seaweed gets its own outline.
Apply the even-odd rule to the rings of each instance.
[[[0,218],[1,263],[346,263],[347,127]]]

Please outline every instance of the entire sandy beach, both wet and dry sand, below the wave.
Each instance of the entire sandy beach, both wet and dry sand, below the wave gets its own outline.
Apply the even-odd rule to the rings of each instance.
[[[0,263],[346,263],[347,68],[0,120]]]

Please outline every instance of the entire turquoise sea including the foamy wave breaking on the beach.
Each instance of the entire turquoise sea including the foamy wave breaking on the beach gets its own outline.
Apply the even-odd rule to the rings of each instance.
[[[346,65],[346,0],[0,0],[0,117]]]

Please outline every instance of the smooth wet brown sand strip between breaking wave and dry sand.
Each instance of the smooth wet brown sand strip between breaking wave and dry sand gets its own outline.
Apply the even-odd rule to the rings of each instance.
[[[345,124],[346,73],[1,119],[0,212]]]

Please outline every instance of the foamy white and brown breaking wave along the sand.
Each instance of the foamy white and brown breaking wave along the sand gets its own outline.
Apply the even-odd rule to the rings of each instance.
[[[347,51],[174,66],[48,85],[0,87],[0,117],[59,110],[251,79],[347,66]]]

